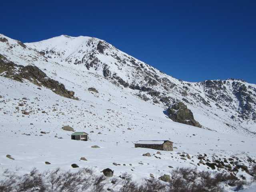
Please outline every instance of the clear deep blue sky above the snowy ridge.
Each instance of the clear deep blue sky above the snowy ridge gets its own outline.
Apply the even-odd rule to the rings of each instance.
[[[2,1],[0,33],[22,42],[94,36],[191,82],[256,83],[256,1]]]

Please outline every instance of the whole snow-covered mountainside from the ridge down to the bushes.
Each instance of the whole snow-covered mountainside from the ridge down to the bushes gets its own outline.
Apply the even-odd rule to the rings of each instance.
[[[76,163],[99,174],[104,168],[111,168],[116,176],[128,172],[139,180],[150,173],[155,177],[168,173],[168,166],[209,170],[197,165],[204,153],[210,161],[238,158],[248,167],[252,165],[248,156],[256,157],[254,84],[232,79],[180,81],[103,40],[84,36],[22,44],[0,35],[0,54],[18,65],[37,66],[79,98],[0,74],[1,172],[8,168],[26,173],[33,167],[68,170]],[[90,87],[98,93],[88,91]],[[214,131],[167,118],[164,110],[173,101],[183,101],[204,128]],[[72,132],[62,130],[64,125],[89,133],[90,140],[70,140]],[[152,139],[171,140],[177,149],[156,154],[153,149],[134,148],[137,140]],[[146,152],[160,158],[142,156]],[[191,159],[180,159],[182,152]],[[241,169],[237,174],[250,178]]]

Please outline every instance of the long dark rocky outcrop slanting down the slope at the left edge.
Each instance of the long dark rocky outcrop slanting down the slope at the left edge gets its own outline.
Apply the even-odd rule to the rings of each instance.
[[[19,82],[23,82],[26,79],[37,86],[44,86],[60,96],[78,99],[74,97],[74,91],[66,90],[64,84],[48,78],[38,67],[16,65],[13,62],[8,62],[2,55],[0,55],[0,74]]]

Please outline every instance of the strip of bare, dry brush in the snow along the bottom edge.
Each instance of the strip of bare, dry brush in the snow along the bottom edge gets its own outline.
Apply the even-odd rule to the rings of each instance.
[[[250,174],[255,176],[254,165]],[[6,179],[0,180],[0,192],[222,192],[222,184],[243,188],[245,181],[240,181],[233,174],[209,171],[198,172],[192,168],[176,168],[170,172],[170,182],[155,178],[144,179],[141,184],[132,181],[132,176],[123,173],[119,177],[107,179],[104,175],[96,176],[93,170],[84,168],[76,172],[62,171],[59,168],[47,172],[38,172],[35,168],[29,174],[18,176],[4,172]],[[104,189],[106,183],[111,188]],[[112,184],[111,184],[112,183]]]

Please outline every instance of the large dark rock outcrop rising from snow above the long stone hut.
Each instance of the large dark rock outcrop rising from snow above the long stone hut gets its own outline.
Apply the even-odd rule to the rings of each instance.
[[[196,127],[202,127],[193,116],[191,110],[187,108],[187,106],[182,103],[175,103],[167,109],[167,113],[170,119],[175,122],[192,125]]]

